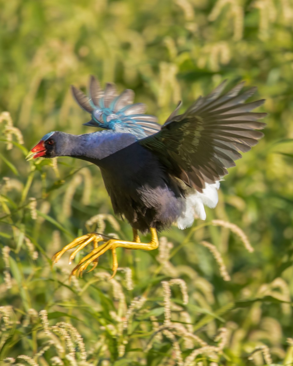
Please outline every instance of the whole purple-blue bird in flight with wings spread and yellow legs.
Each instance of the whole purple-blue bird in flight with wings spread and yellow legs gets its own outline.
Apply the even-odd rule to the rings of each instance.
[[[120,240],[91,232],[74,239],[52,258],[58,262],[67,250],[76,254],[92,243],[93,249],[82,258],[71,276],[82,276],[107,250],[112,253],[112,276],[117,272],[116,249],[154,250],[158,232],[177,223],[191,227],[194,219],[206,219],[204,206],[215,208],[220,180],[235,166],[241,153],[248,152],[263,137],[267,114],[252,112],[264,99],[246,102],[256,87],[242,91],[244,82],[226,90],[223,81],[207,96],[179,114],[181,102],[163,125],[145,115],[145,105],[133,104],[134,92],[120,95],[115,84],[103,90],[90,77],[89,96],[72,86],[81,108],[91,114],[86,126],[102,130],[82,135],[62,131],[47,133],[30,150],[27,160],[71,156],[100,168],[114,213],[125,218],[133,229],[132,240]],[[141,242],[138,234],[150,232],[151,240]],[[102,243],[102,244],[101,244]],[[88,272],[89,272],[88,271]]]

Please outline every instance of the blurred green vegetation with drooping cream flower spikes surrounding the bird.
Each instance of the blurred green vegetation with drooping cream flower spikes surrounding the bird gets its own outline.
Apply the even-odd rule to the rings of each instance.
[[[0,4],[0,364],[292,365],[293,1]],[[24,159],[49,131],[94,131],[69,91],[90,74],[133,89],[161,123],[225,78],[258,86],[269,116],[206,223],[172,227],[160,251],[118,249],[114,280],[105,254],[69,284],[55,251],[96,226],[132,234],[97,167]]]

